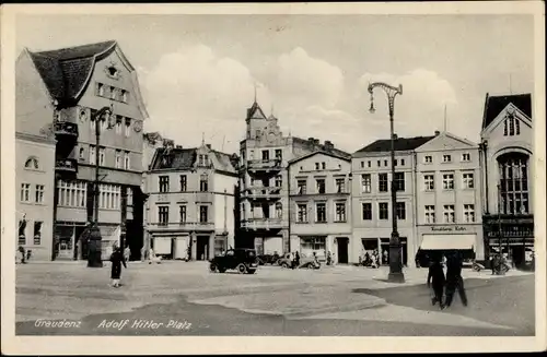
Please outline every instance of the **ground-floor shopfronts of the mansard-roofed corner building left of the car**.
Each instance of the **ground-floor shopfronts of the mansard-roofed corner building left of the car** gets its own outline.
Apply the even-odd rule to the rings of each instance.
[[[228,235],[214,231],[150,231],[150,248],[156,257],[167,260],[207,261],[233,248]]]

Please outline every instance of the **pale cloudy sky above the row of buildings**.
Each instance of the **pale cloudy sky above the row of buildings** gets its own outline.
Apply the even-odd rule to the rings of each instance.
[[[353,152],[388,138],[370,81],[403,84],[399,136],[443,130],[446,106],[447,130],[477,141],[487,92],[533,91],[533,33],[529,15],[27,15],[16,51],[116,39],[139,71],[146,129],[184,146],[205,132],[237,152],[256,85],[286,134]]]

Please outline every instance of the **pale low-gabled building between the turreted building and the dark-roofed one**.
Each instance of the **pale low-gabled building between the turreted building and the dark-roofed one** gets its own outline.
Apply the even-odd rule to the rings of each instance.
[[[338,263],[350,261],[350,157],[318,151],[289,162],[291,251],[322,260],[330,252]]]

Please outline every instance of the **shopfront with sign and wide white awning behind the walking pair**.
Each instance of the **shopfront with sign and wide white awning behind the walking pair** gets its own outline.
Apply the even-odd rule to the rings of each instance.
[[[484,260],[482,225],[423,225],[418,226],[418,247],[421,251],[457,250],[465,259]]]

